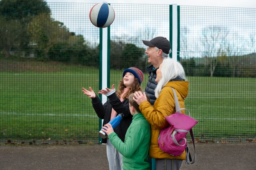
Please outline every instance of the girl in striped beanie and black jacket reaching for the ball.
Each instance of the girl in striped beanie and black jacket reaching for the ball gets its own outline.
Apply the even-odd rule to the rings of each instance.
[[[119,82],[118,91],[116,91],[114,85],[112,85],[112,89],[105,88],[99,90],[99,94],[104,94],[108,97],[107,102],[104,104],[102,104],[100,98],[94,93],[91,87],[89,87],[89,90],[82,88],[82,92],[92,99],[92,106],[97,116],[103,119],[103,124],[107,124],[120,113],[124,114],[120,124],[114,129],[114,132],[123,142],[126,131],[132,122],[128,97],[134,92],[142,91],[140,85],[143,78],[143,73],[138,68],[127,68],[123,72],[123,79]],[[108,138],[102,139],[101,142],[107,144],[109,169],[122,170],[123,156],[116,150]]]

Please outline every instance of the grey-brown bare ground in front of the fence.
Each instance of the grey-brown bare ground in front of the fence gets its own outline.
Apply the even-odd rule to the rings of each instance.
[[[256,142],[196,144],[181,170],[256,170]],[[106,145],[0,145],[0,170],[108,170]]]

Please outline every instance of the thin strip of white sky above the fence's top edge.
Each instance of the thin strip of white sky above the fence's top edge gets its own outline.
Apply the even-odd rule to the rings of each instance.
[[[77,3],[119,3],[119,4],[177,4],[208,7],[256,8],[256,0],[45,0],[46,2],[77,2]]]

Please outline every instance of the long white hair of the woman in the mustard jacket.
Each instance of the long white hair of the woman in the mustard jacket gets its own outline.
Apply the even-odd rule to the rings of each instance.
[[[158,98],[160,92],[164,85],[166,85],[171,79],[174,79],[179,76],[184,81],[186,81],[185,71],[180,64],[180,62],[176,61],[175,59],[166,58],[163,60],[162,63],[162,78],[157,83],[157,87],[155,88],[155,97]]]

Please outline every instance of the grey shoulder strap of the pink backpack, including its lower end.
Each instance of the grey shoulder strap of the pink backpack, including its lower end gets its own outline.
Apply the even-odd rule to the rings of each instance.
[[[173,87],[171,87],[173,89]],[[176,113],[181,113],[181,110],[183,109],[180,109],[180,103],[179,103],[179,100],[177,98],[177,94],[175,92],[175,89],[173,89],[173,94],[174,94],[174,99],[175,99],[175,109],[176,109]],[[186,109],[187,110],[187,109]],[[190,112],[189,112],[189,116],[190,116]],[[189,131],[190,135],[191,135],[191,139],[192,139],[192,142],[193,142],[193,146],[194,146],[194,151],[195,151],[195,139],[194,139],[194,134],[193,134],[193,130],[192,128],[190,129]],[[191,157],[191,154],[189,152],[189,147],[188,147],[188,144],[186,146],[186,164],[193,164],[195,163],[195,160],[196,160],[196,152],[195,152],[195,156],[194,156],[194,159],[192,161],[192,157]]]

